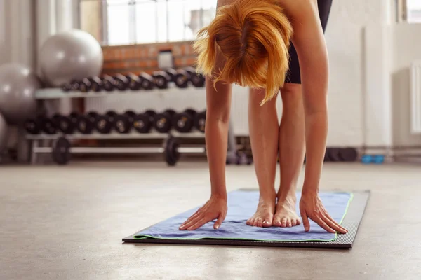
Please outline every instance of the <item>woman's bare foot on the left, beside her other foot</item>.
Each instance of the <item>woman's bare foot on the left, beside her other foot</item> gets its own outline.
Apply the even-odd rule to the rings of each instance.
[[[276,196],[262,198],[260,197],[256,213],[247,220],[247,225],[260,228],[272,227],[272,220],[275,213]]]

